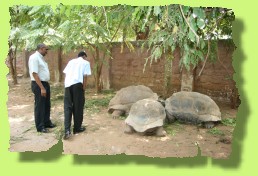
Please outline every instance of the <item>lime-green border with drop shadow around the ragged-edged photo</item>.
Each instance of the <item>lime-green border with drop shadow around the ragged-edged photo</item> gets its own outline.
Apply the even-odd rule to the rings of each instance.
[[[3,2],[4,1],[4,2]],[[8,84],[6,75],[8,68],[5,65],[10,32],[9,7],[15,4],[42,5],[63,3],[66,5],[166,5],[183,4],[189,6],[226,7],[233,9],[236,21],[233,26],[234,42],[237,50],[234,53],[234,79],[240,92],[242,104],[237,114],[237,126],[234,130],[233,150],[229,159],[219,160],[208,157],[194,158],[148,158],[144,156],[78,156],[62,155],[62,142],[41,153],[9,152],[9,122],[6,102],[8,100]],[[257,52],[255,39],[257,26],[255,19],[256,6],[254,0],[2,0],[1,30],[0,30],[0,172],[8,175],[257,175],[257,91],[254,81],[257,72]],[[87,146],[85,146],[87,147]]]

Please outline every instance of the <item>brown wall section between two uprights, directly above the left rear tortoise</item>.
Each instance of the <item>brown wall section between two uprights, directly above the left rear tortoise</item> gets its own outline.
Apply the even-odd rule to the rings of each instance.
[[[152,65],[148,63],[143,72],[144,58],[148,57],[147,51],[141,52],[140,47],[135,46],[135,52],[124,48],[121,53],[120,47],[120,44],[117,44],[112,49],[114,59],[110,65],[111,87],[120,89],[129,85],[143,84],[156,92],[161,92],[164,85],[164,60],[159,59]]]

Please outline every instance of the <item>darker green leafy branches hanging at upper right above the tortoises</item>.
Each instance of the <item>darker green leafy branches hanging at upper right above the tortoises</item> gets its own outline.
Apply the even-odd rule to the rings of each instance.
[[[200,61],[214,56],[211,43],[232,37],[234,13],[224,8],[188,7],[182,5],[139,7],[143,26],[149,26],[149,38],[145,45],[151,50],[148,60],[161,58],[181,49],[180,64],[188,70]],[[173,57],[171,57],[173,58]],[[214,60],[214,57],[210,57]]]

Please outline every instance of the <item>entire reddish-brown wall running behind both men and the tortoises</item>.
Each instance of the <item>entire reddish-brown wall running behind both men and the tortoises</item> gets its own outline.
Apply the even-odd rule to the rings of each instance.
[[[121,53],[121,44],[114,43],[112,48],[113,59],[106,58],[106,62],[102,69],[101,79],[103,81],[103,88],[112,88],[119,90],[129,85],[143,84],[150,87],[154,92],[158,94],[164,93],[164,71],[165,71],[165,59],[158,59],[151,65],[148,62],[145,71],[143,72],[145,58],[148,57],[147,50],[143,52],[141,50],[141,44],[134,42],[134,52],[125,47]],[[234,69],[232,66],[232,54],[233,48],[229,48],[224,41],[218,43],[220,62],[206,63],[206,66],[198,79],[195,79],[194,91],[201,92],[212,97],[229,98],[232,89],[235,86],[235,82],[229,80],[228,77],[232,77]],[[77,57],[78,51],[62,54],[62,70],[72,58]],[[90,52],[86,50],[88,59],[91,63],[92,72],[94,68],[94,59]],[[18,73],[22,73],[24,64],[24,54],[19,54],[17,57]],[[51,81],[55,82],[57,75],[57,57],[58,52],[50,50],[46,56],[51,72]],[[179,68],[180,50],[176,49],[174,53],[173,67],[172,67],[172,88],[169,92],[173,93],[180,90],[181,86],[181,71]],[[196,68],[196,74],[201,70],[202,64]],[[226,69],[227,70],[226,70]],[[228,75],[228,73],[230,75]],[[88,79],[90,87],[94,87],[94,76],[92,75]]]

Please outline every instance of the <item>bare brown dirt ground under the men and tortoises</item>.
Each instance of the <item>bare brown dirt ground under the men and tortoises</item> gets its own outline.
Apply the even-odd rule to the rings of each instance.
[[[234,125],[218,124],[214,129],[204,129],[194,125],[173,123],[165,126],[165,137],[142,136],[124,133],[124,119],[113,119],[107,107],[85,109],[83,125],[86,131],[63,140],[63,85],[51,84],[51,119],[57,127],[50,133],[37,133],[33,117],[34,96],[28,78],[19,78],[18,85],[9,82],[8,119],[10,123],[11,152],[47,151],[63,142],[63,154],[79,155],[145,155],[148,157],[194,157],[201,156],[226,159],[231,154]],[[102,99],[88,90],[86,101]],[[229,104],[217,102],[222,119],[234,120],[237,110]]]

